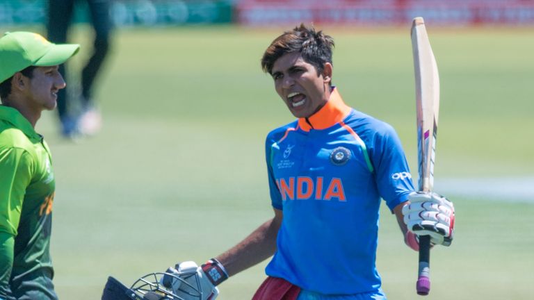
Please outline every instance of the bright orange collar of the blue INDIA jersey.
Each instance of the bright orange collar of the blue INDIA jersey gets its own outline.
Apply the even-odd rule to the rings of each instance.
[[[335,124],[343,121],[352,108],[347,106],[341,95],[337,92],[337,88],[332,89],[330,99],[326,102],[317,113],[314,113],[311,117],[298,119],[298,126],[303,131],[310,131],[310,129],[326,129],[334,126]],[[310,126],[312,124],[312,126]]]

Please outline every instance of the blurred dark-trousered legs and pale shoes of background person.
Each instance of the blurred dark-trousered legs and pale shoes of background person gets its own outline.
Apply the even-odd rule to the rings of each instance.
[[[95,37],[92,54],[84,65],[80,76],[80,91],[74,92],[73,85],[58,94],[58,113],[62,126],[61,133],[67,138],[79,135],[94,135],[102,126],[102,117],[95,107],[93,99],[93,83],[99,74],[110,46],[112,31],[109,9],[110,0],[49,0],[47,31],[48,39],[55,43],[67,41],[67,31],[72,24],[74,3],[86,1],[90,12],[90,24]],[[67,77],[65,67],[60,68],[61,74]],[[74,85],[76,88],[76,85]],[[81,108],[74,113],[72,104]]]

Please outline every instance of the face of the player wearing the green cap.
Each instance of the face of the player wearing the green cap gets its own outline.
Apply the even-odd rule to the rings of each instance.
[[[58,66],[35,67],[33,76],[27,78],[26,99],[36,110],[53,110],[56,108],[58,91],[66,83],[58,71]]]

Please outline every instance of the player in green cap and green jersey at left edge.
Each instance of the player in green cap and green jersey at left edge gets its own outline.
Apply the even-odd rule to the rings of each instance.
[[[49,245],[54,172],[35,124],[65,88],[60,64],[78,44],[29,32],[0,38],[0,299],[57,299]]]

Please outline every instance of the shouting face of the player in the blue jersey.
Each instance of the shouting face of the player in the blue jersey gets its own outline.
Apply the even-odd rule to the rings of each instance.
[[[276,92],[295,117],[313,115],[330,97],[330,63],[317,74],[314,65],[306,63],[299,52],[286,53],[275,61],[271,74]]]

